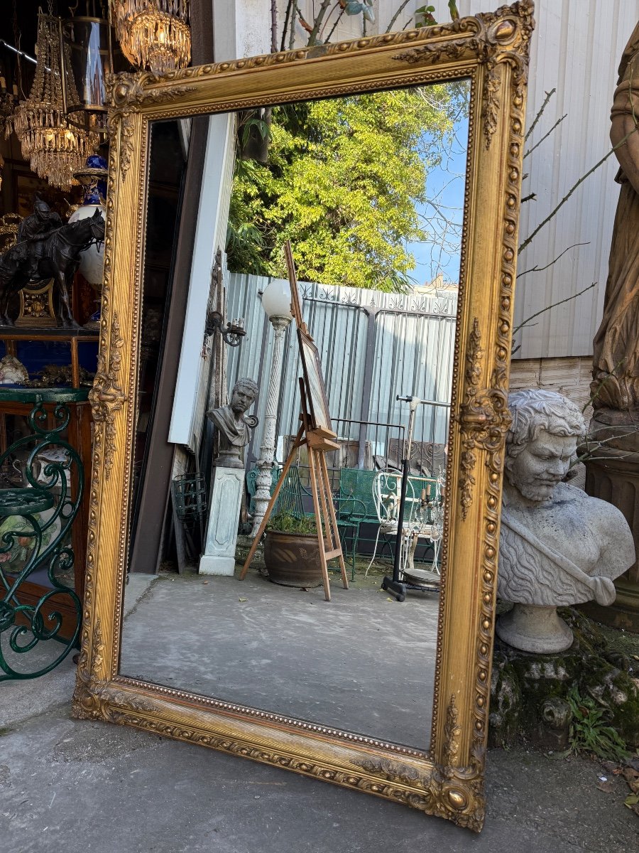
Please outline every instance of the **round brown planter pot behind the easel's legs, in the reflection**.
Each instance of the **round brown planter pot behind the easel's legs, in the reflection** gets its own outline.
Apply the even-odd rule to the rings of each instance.
[[[264,563],[273,583],[298,588],[320,586],[322,583],[320,547],[316,536],[267,531]]]

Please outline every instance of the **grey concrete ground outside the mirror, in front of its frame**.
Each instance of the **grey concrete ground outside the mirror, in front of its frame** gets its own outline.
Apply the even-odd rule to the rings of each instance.
[[[133,583],[137,583],[133,581]],[[146,584],[128,596],[129,611]],[[248,596],[247,596],[248,597]],[[389,607],[391,605],[389,604]],[[399,610],[400,605],[396,605]],[[481,835],[247,759],[70,718],[71,658],[0,683],[0,850],[10,853],[629,853],[628,788],[599,763],[493,750]],[[379,682],[383,693],[394,684]],[[612,790],[597,786],[606,776]]]

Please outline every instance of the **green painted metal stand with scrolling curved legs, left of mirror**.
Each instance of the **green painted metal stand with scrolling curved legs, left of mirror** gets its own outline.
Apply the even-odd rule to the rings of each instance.
[[[10,516],[18,516],[26,523],[20,525],[20,530],[8,530],[0,536],[0,682],[42,676],[60,664],[73,647],[78,647],[82,603],[73,589],[60,583],[58,575],[71,571],[75,560],[69,534],[82,502],[84,472],[78,451],[62,436],[71,417],[68,403],[83,402],[87,396],[87,388],[0,387],[0,405],[3,401],[33,403],[28,415],[31,434],[18,438],[0,455],[2,467],[5,461],[20,460],[26,454],[26,486],[0,489],[0,523]],[[52,404],[49,411],[46,403]],[[49,423],[51,415],[53,424]],[[61,450],[60,459],[48,460],[51,450]],[[48,515],[43,518],[43,513]],[[29,555],[19,572],[9,572],[5,568],[8,559],[3,555],[17,548],[18,540],[21,548],[25,548],[26,541]],[[46,570],[50,589],[35,605],[20,603],[21,584],[42,569]],[[55,610],[60,606],[60,597],[74,612],[75,628],[67,637],[60,636],[62,615]],[[45,665],[29,667],[28,653],[49,640],[55,640],[60,648],[55,647]],[[9,649],[13,655],[8,659]],[[20,664],[25,661],[26,667],[14,669],[18,660]]]

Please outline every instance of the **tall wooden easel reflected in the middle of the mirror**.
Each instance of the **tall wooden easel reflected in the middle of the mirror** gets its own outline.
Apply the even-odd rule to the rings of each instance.
[[[291,243],[285,243],[286,266],[289,272],[289,281],[291,282],[291,313],[295,319],[297,326],[297,337],[300,341],[300,350],[302,350],[302,337],[306,338],[313,344],[313,339],[308,334],[308,328],[302,316],[302,306],[300,304],[299,293],[297,291],[297,276],[295,272],[295,264],[293,264],[293,254],[291,252]],[[314,347],[314,345],[313,345]],[[316,348],[314,347],[316,353]],[[318,362],[319,363],[319,362]],[[312,365],[311,365],[312,366]],[[331,601],[331,584],[328,579],[327,560],[332,560],[334,557],[339,558],[340,572],[342,573],[342,583],[344,589],[348,589],[348,577],[346,576],[346,566],[344,565],[344,557],[342,554],[342,545],[339,541],[339,531],[337,530],[337,518],[335,516],[335,507],[333,506],[331,496],[331,481],[328,477],[328,467],[326,466],[325,454],[330,450],[339,450],[339,444],[335,440],[337,433],[332,432],[326,427],[318,427],[314,421],[313,409],[309,412],[308,400],[309,396],[309,380],[308,380],[308,365],[302,357],[302,373],[300,377],[300,399],[302,403],[302,413],[300,421],[302,424],[297,431],[295,441],[291,447],[291,452],[285,461],[282,473],[279,475],[279,480],[273,491],[273,496],[268,502],[268,507],[262,524],[256,533],[253,544],[250,547],[249,555],[239,574],[239,580],[244,580],[246,572],[249,571],[250,561],[255,556],[256,548],[263,532],[266,530],[268,519],[270,518],[275,502],[278,499],[279,492],[285,483],[286,475],[289,472],[294,459],[297,456],[299,449],[303,444],[306,444],[308,450],[308,470],[311,478],[311,494],[313,495],[313,507],[315,519],[317,519],[317,541],[320,546],[320,563],[322,568],[322,577],[324,579],[324,595],[326,601]],[[317,369],[316,380],[319,382],[321,399],[319,403],[324,409],[325,422],[328,421],[328,403],[326,403],[324,380],[321,376],[320,368]],[[317,403],[318,401],[316,401]],[[311,400],[311,403],[313,401]],[[321,422],[321,421],[320,421]],[[330,421],[328,421],[330,427]],[[323,532],[324,531],[324,532]]]

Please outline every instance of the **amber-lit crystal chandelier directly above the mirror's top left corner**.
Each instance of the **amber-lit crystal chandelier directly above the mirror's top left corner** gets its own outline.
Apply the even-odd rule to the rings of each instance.
[[[191,61],[189,0],[109,0],[120,47],[132,65],[161,74]]]

